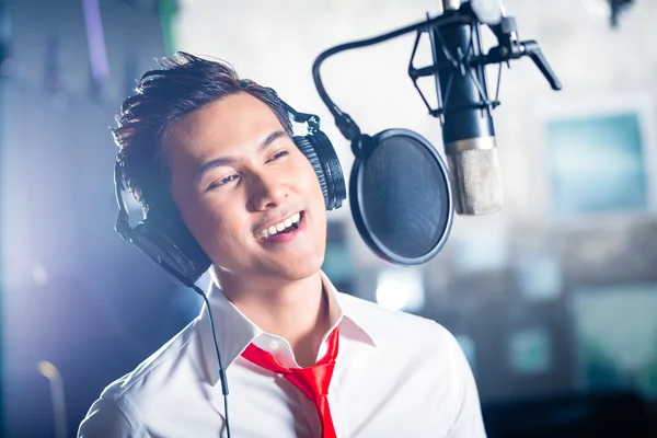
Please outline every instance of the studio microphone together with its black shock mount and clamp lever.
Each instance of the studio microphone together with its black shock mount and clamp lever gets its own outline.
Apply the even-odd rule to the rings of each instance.
[[[472,0],[462,4],[460,0],[443,0],[443,9],[446,19],[460,20],[429,27],[434,66],[415,69],[412,59],[408,73],[414,83],[418,77],[435,76],[439,108],[429,108],[429,114],[440,118],[457,212],[497,212],[504,195],[491,113],[499,102],[497,96],[488,97],[486,65],[529,55],[554,90],[560,90],[561,84],[538,44],[518,41],[515,20],[503,16],[499,0]],[[482,51],[481,24],[487,24],[499,42],[487,55]],[[426,104],[424,95],[423,100]]]

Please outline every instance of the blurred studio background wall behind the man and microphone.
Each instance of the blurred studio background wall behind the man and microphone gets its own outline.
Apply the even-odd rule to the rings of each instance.
[[[347,203],[330,214],[324,268],[342,290],[457,335],[492,437],[615,434],[606,422],[620,435],[596,436],[632,436],[657,416],[657,1],[627,2],[613,28],[603,0],[504,3],[564,85],[551,91],[528,59],[503,69],[504,210],[456,217],[436,258],[395,268],[362,243]],[[314,89],[314,58],[441,8],[4,0],[0,10],[3,436],[28,437],[57,427],[59,378],[39,362],[58,370],[73,436],[101,390],[199,308],[113,231],[108,127],[153,59],[177,49],[221,58],[275,88],[322,117],[348,175],[353,155]],[[364,131],[413,129],[442,153],[440,125],[406,73],[413,42],[341,54],[322,77]],[[416,62],[430,61],[424,41]],[[491,89],[497,69],[488,76]],[[434,102],[431,81],[420,87]]]

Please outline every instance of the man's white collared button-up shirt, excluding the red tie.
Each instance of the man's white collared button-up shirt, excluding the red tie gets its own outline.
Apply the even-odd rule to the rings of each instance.
[[[323,280],[333,327],[339,325],[328,389],[338,438],[485,437],[470,366],[445,327],[339,293]],[[240,356],[254,343],[298,367],[288,342],[258,328],[215,286],[209,301],[227,368],[232,438],[319,437],[312,402],[285,378]],[[78,437],[226,437],[218,369],[204,307],[178,335],[103,391]]]

